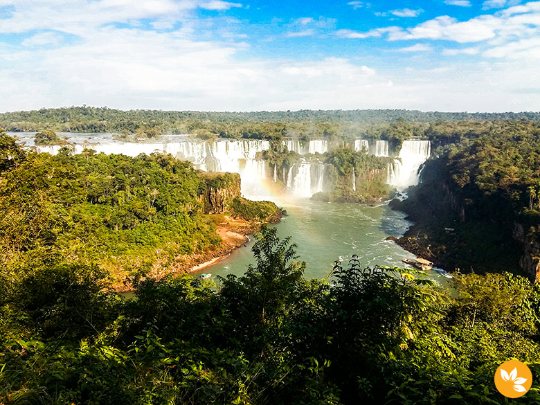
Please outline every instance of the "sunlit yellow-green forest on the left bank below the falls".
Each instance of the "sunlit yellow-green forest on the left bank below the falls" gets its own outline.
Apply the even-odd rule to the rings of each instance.
[[[99,265],[117,282],[145,276],[156,266],[174,267],[179,255],[219,246],[206,213],[246,215],[226,198],[208,208],[231,184],[228,200],[240,195],[238,174],[210,179],[171,155],[72,155],[64,147],[51,156],[23,150],[3,133],[0,147],[1,265],[13,280],[59,260]],[[250,220],[277,212],[273,203],[253,202]]]

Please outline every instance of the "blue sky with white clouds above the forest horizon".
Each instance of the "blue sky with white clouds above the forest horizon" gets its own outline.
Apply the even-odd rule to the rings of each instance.
[[[0,0],[0,111],[540,111],[540,1]]]

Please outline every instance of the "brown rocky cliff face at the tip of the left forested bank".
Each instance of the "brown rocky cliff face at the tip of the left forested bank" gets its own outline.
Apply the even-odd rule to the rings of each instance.
[[[240,174],[200,172],[199,201],[205,214],[222,214],[240,197]]]

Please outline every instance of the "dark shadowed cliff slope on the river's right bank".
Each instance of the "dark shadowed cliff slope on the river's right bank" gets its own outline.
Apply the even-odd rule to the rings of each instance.
[[[525,253],[523,238],[513,237],[516,221],[504,199],[460,188],[436,161],[423,173],[424,183],[409,190],[408,199],[391,204],[415,222],[398,244],[449,271],[525,270],[532,276],[523,259],[530,252]]]

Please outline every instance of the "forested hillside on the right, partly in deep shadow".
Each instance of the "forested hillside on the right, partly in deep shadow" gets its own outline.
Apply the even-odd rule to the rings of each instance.
[[[395,204],[416,222],[404,246],[444,268],[540,280],[540,125],[437,123],[425,135],[435,156]]]

